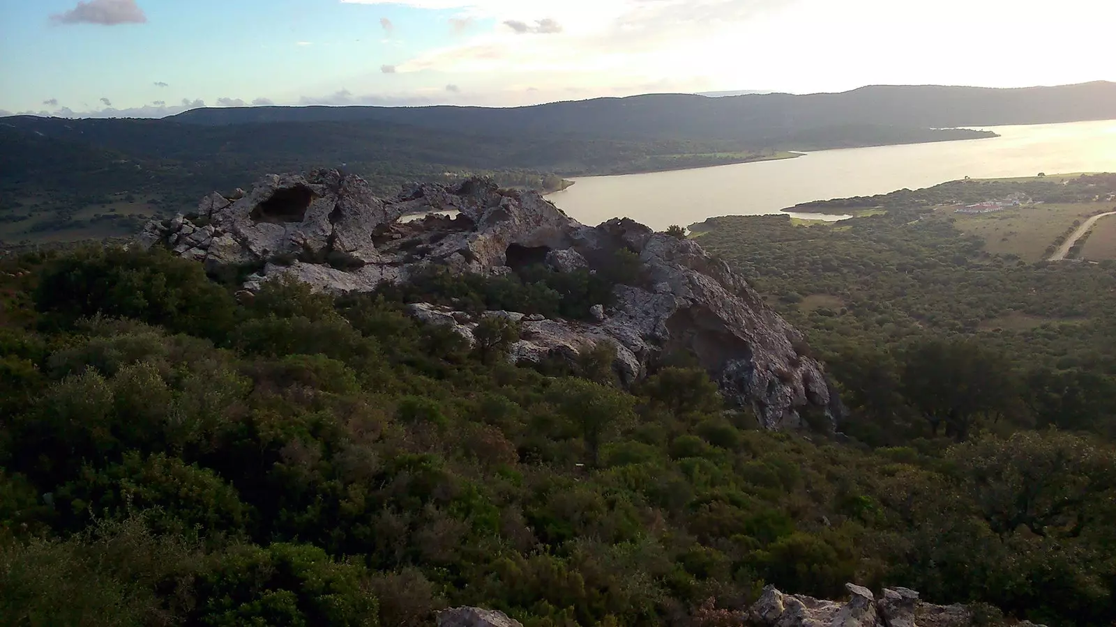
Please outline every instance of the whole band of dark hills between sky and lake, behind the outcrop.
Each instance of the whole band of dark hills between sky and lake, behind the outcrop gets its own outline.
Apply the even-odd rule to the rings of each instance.
[[[246,107],[164,119],[0,120],[0,241],[108,237],[266,172],[326,165],[382,194],[483,174],[560,176],[785,158],[791,151],[993,136],[958,128],[1116,118],[1116,84],[650,94],[532,107]]]

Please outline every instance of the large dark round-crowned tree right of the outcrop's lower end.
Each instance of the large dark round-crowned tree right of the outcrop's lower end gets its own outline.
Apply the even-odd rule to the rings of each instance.
[[[1006,357],[972,340],[934,339],[903,356],[903,396],[931,430],[962,442],[982,416],[993,419],[1019,407],[1016,377]]]

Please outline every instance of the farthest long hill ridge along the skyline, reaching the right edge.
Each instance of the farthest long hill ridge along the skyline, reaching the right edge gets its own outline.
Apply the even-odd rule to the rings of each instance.
[[[648,94],[529,107],[240,107],[193,109],[175,122],[388,122],[474,134],[595,138],[737,139],[779,144],[805,129],[849,125],[950,128],[1116,118],[1116,84],[990,89],[873,86],[841,94],[751,94],[711,98]]]

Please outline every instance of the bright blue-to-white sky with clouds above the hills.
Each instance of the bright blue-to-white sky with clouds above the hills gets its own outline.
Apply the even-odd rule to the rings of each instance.
[[[1116,80],[1113,0],[0,0],[0,115]]]

